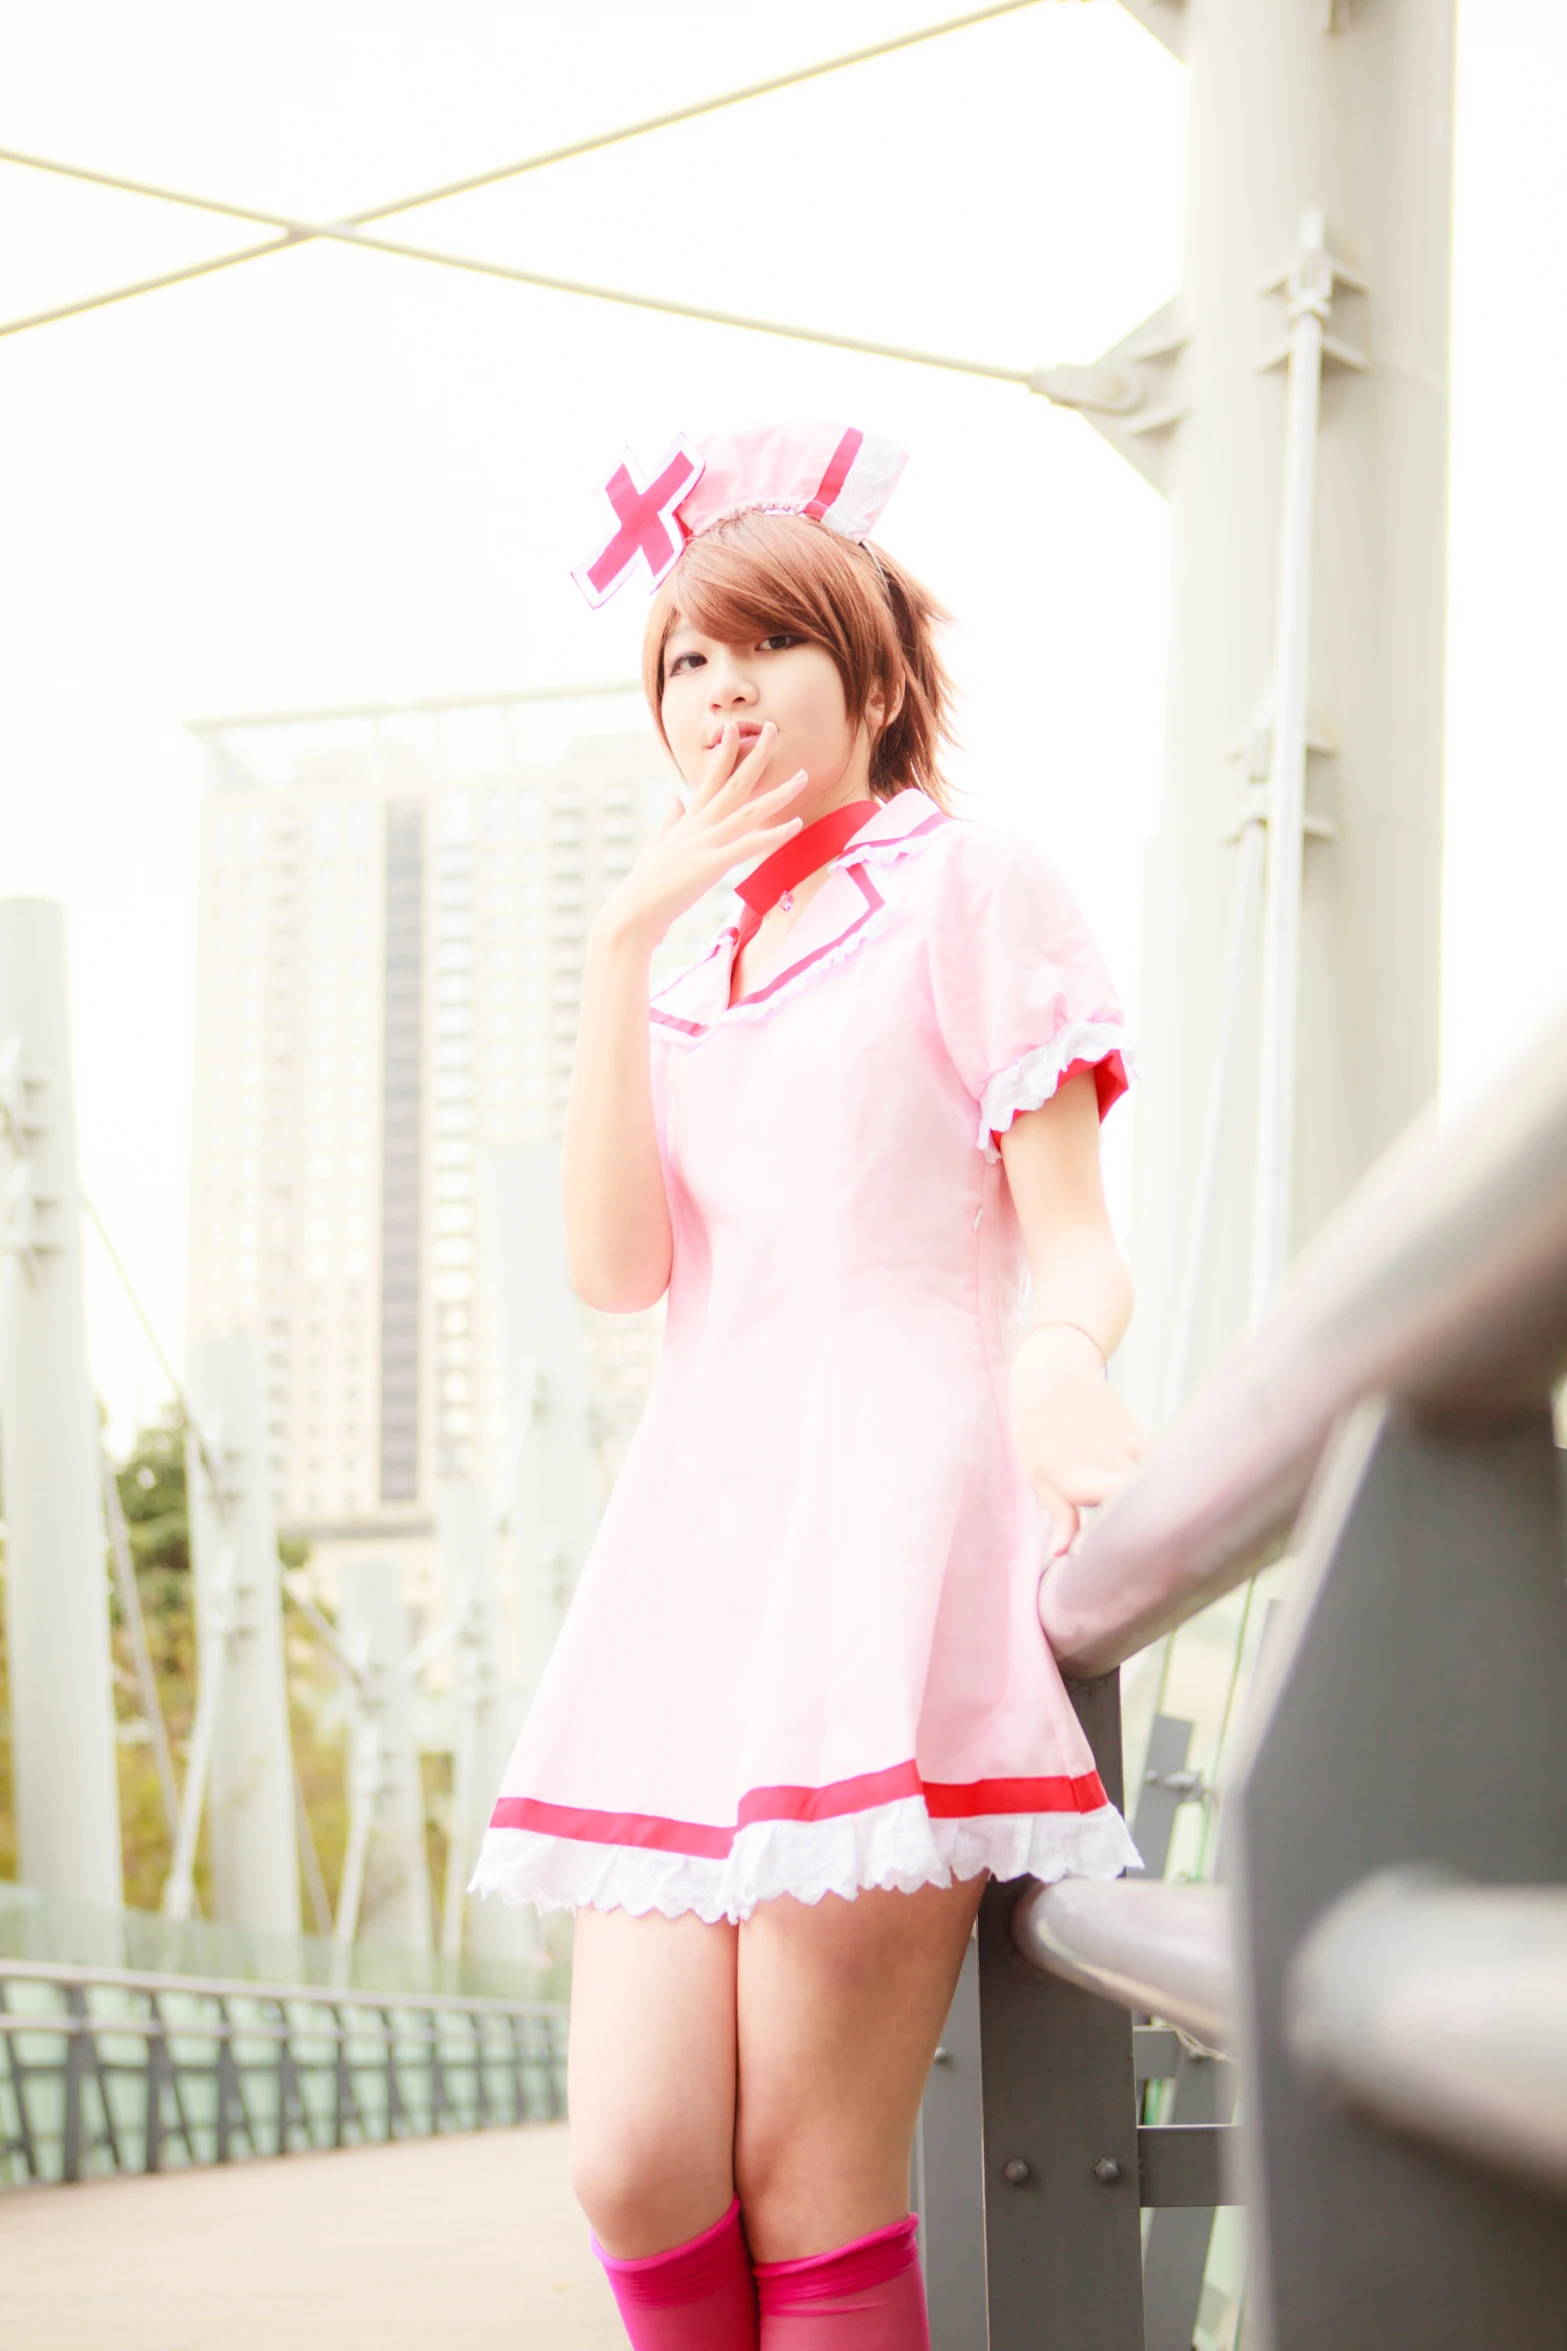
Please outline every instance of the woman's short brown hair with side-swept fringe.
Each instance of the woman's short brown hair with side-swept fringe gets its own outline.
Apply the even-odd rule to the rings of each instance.
[[[641,682],[665,750],[665,644],[677,621],[733,644],[789,630],[825,647],[843,679],[850,724],[881,686],[893,717],[872,748],[872,792],[919,785],[947,806],[940,745],[951,743],[951,684],[935,649],[949,614],[879,548],[806,515],[731,515],[693,538],[658,590]]]

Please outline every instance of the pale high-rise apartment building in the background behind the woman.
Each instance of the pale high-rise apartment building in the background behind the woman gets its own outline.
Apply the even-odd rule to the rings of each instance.
[[[317,1545],[418,1542],[437,1479],[503,1474],[484,1152],[559,1133],[587,926],[670,792],[634,708],[202,729],[190,1328],[261,1340]],[[653,1345],[585,1319],[606,1465]]]

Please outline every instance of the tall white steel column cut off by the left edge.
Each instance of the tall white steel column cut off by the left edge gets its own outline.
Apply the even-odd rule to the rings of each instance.
[[[0,1474],[16,1867],[117,1909],[99,1415],[87,1378],[66,915],[0,898]]]

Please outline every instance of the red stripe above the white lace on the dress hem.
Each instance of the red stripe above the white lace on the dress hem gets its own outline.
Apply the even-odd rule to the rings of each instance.
[[[921,1780],[916,1763],[832,1780],[827,1787],[752,1787],[740,1799],[738,1824],[719,1829],[700,1820],[663,1820],[655,1813],[590,1813],[580,1806],[540,1803],[538,1796],[498,1796],[491,1829],[538,1829],[585,1846],[641,1846],[653,1853],[691,1853],[705,1862],[728,1860],[740,1829],[768,1820],[843,1820],[902,1796],[926,1799],[930,1820],[980,1820],[987,1813],[1099,1813],[1109,1803],[1097,1770],[1045,1780]]]

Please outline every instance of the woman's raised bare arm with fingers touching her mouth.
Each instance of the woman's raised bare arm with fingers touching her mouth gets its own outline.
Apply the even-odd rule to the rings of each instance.
[[[583,966],[561,1194],[566,1262],[578,1298],[606,1314],[651,1307],[670,1286],[670,1201],[653,1126],[648,1063],[648,969],[653,950],[733,865],[768,856],[799,818],[787,813],[806,773],[756,792],[775,726],[738,759],[738,729],[726,726],[707,773],[679,802],[625,882],[599,912]]]

